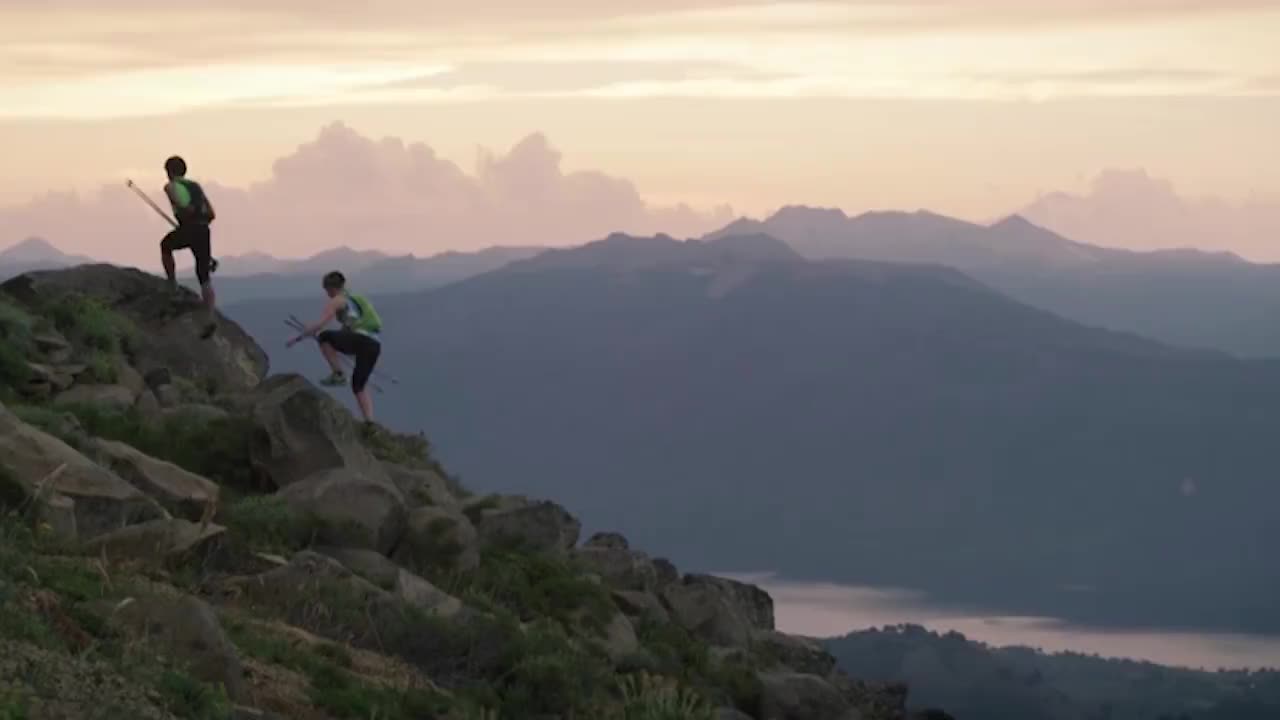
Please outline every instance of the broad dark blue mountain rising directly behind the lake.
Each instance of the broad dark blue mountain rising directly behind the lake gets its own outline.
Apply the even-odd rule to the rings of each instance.
[[[1260,550],[1280,539],[1276,364],[764,236],[611,236],[375,301],[399,380],[375,377],[379,414],[426,429],[472,487],[554,493],[719,571],[1280,629]],[[319,307],[228,311],[273,368],[319,375],[312,348],[279,350],[282,318]]]

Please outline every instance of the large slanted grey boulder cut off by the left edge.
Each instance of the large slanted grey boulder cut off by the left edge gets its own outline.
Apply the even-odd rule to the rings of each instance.
[[[160,505],[119,475],[23,423],[4,406],[0,406],[0,466],[27,496],[38,491],[41,498],[69,500],[82,539],[166,516]]]

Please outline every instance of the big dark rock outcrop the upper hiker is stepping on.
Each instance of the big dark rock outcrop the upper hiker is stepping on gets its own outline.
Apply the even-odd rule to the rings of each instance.
[[[225,315],[219,313],[216,334],[200,340],[206,319],[200,297],[183,288],[183,299],[174,300],[168,282],[159,275],[84,264],[24,273],[6,281],[0,290],[27,306],[83,293],[119,313],[138,329],[131,338],[131,351],[143,378],[166,368],[175,375],[225,391],[252,388],[266,374],[266,354]]]

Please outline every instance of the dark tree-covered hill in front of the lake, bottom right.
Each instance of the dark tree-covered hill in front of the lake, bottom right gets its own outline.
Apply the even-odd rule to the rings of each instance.
[[[905,682],[913,701],[980,720],[1271,720],[1280,673],[1206,673],[1030,648],[995,648],[919,626],[824,643],[849,673]]]

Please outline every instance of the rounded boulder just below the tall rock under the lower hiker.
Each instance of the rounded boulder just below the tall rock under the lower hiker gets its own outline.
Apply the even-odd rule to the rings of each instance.
[[[404,498],[390,482],[348,469],[323,470],[279,495],[292,509],[319,521],[321,542],[388,553],[404,533]]]

